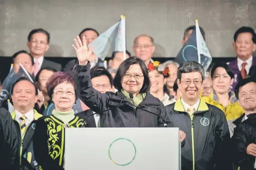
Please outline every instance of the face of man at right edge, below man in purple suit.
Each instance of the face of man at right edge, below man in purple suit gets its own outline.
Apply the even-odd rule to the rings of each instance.
[[[256,83],[251,82],[239,90],[239,103],[245,110],[256,109]]]

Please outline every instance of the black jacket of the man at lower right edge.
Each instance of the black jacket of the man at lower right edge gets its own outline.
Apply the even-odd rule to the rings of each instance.
[[[247,116],[248,119],[234,129],[231,138],[232,160],[240,166],[240,170],[255,170],[255,157],[247,154],[247,146],[256,144],[256,113]]]

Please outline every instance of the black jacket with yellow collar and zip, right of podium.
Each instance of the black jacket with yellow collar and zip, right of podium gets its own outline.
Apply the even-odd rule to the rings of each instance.
[[[229,128],[224,113],[200,99],[192,117],[181,99],[166,106],[171,122],[186,133],[182,148],[182,170],[232,170],[228,155]]]

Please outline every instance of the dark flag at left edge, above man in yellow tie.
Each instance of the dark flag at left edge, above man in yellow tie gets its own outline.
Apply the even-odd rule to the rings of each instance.
[[[13,64],[11,65],[11,69],[7,77],[4,79],[2,83],[2,89],[0,91],[0,106],[6,106],[6,100],[8,98],[11,98],[10,91],[11,87],[16,82],[19,78],[21,77],[26,77],[28,78],[31,82],[33,82],[31,76],[27,72],[27,70],[20,64],[20,68],[18,72],[15,74],[13,70]]]

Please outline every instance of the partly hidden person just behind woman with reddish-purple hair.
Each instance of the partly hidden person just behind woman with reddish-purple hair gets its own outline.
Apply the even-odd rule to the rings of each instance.
[[[35,81],[40,90],[40,98],[38,97],[38,100],[40,101],[37,102],[37,105],[36,105],[37,107],[35,107],[35,109],[40,114],[43,114],[44,111],[47,109],[48,105],[51,104],[51,100],[46,89],[46,83],[49,77],[51,77],[55,72],[57,72],[56,69],[51,67],[45,67],[45,68],[41,68],[38,74],[36,75]]]

